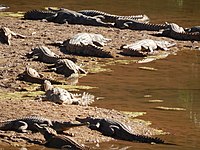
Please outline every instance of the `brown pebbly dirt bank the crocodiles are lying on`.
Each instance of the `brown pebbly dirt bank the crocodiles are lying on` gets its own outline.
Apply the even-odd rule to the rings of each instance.
[[[160,132],[149,127],[146,123],[138,121],[137,119],[130,119],[129,116],[115,110],[97,108],[95,106],[83,107],[77,105],[58,105],[52,102],[40,101],[37,97],[38,95],[44,94],[44,92],[38,88],[39,85],[19,81],[16,80],[16,78],[25,70],[26,66],[30,66],[48,78],[66,81],[66,79],[61,75],[44,72],[47,68],[47,64],[32,61],[26,57],[26,54],[30,52],[33,47],[46,45],[56,54],[64,56],[66,54],[61,52],[58,47],[48,44],[53,43],[54,41],[64,41],[80,32],[100,33],[103,36],[112,39],[112,41],[105,46],[105,49],[111,50],[116,56],[116,58],[110,59],[73,56],[78,59],[77,63],[89,73],[94,73],[92,70],[104,62],[115,62],[115,60],[121,59],[136,59],[123,57],[118,54],[119,47],[122,44],[130,44],[136,40],[150,38],[176,42],[176,47],[172,48],[173,52],[177,52],[185,46],[189,46],[187,48],[192,46],[192,43],[189,41],[175,41],[164,37],[154,37],[150,35],[150,33],[152,33],[150,31],[119,30],[116,28],[83,25],[61,25],[44,21],[30,21],[10,17],[1,17],[0,27],[7,27],[13,32],[26,36],[26,38],[12,37],[10,46],[0,43],[0,121],[28,115],[40,115],[55,120],[74,121],[77,116],[85,117],[92,115],[96,117],[114,118],[125,122],[131,126],[133,132],[137,134],[158,135]],[[81,87],[81,85],[79,85],[79,87]],[[80,90],[79,88],[75,89]],[[69,88],[69,90],[74,89]],[[83,88],[80,91],[87,92],[88,90]],[[72,133],[74,139],[86,145],[88,143],[99,143],[111,140],[111,138],[102,136],[98,132],[91,131],[87,127],[77,127],[66,132]],[[44,141],[44,138],[39,133],[27,134],[16,133],[13,131],[0,131],[0,146],[32,146],[34,141],[40,143],[41,141]]]

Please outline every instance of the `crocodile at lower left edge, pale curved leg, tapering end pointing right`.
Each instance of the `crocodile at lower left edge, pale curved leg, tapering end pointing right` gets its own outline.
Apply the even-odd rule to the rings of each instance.
[[[0,122],[0,130],[17,132],[35,132],[37,131],[37,129],[35,128],[34,123],[37,123],[43,127],[51,127],[59,133],[62,133],[63,131],[68,130],[72,127],[88,125],[88,123],[73,123],[70,121],[50,120],[42,116],[27,116]]]

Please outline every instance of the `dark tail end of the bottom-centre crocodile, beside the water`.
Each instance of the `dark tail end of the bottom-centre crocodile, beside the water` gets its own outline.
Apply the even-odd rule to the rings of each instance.
[[[135,135],[133,137],[133,141],[138,141],[141,143],[156,143],[156,144],[164,144],[165,142],[158,138],[158,137],[148,137],[148,136],[143,136],[143,135]]]

